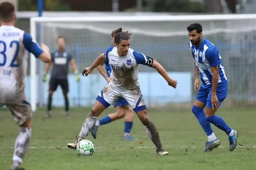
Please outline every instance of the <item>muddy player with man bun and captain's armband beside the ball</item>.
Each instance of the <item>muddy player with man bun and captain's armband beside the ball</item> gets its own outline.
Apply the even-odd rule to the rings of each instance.
[[[132,50],[130,48],[130,35],[131,33],[128,33],[128,31],[122,32],[122,28],[117,29],[114,37],[116,47],[109,47],[105,53],[95,60],[92,66],[84,68],[82,75],[88,76],[93,69],[106,59],[109,59],[112,67],[111,81],[97,96],[94,107],[83,123],[79,139],[73,143],[68,143],[68,148],[76,149],[77,143],[85,139],[88,132],[94,127],[96,119],[101,112],[110,105],[113,105],[119,97],[123,97],[145,126],[148,137],[156,147],[157,154],[168,154],[168,152],[162,149],[159,133],[147,115],[146,104],[138,83],[138,64],[155,68],[164,77],[169,86],[176,88],[177,81],[171,79],[163,66],[156,60]]]

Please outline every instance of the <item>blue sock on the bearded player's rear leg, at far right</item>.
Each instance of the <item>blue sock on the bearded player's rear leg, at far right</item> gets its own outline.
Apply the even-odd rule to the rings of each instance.
[[[206,117],[206,120],[212,124],[214,124],[216,127],[219,129],[223,130],[224,132],[227,133],[227,135],[231,132],[231,128],[226,124],[226,122],[219,116],[214,115],[214,116],[209,116]]]

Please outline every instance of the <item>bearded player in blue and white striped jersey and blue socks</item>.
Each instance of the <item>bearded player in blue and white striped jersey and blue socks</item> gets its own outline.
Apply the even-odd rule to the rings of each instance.
[[[220,145],[210,123],[227,133],[229,150],[233,151],[237,146],[238,133],[231,129],[221,117],[215,115],[228,92],[228,81],[218,49],[209,40],[202,38],[202,26],[199,23],[189,25],[187,30],[190,37],[189,48],[195,59],[194,89],[197,95],[192,112],[208,137],[202,152],[211,151]],[[198,89],[199,76],[202,85]]]

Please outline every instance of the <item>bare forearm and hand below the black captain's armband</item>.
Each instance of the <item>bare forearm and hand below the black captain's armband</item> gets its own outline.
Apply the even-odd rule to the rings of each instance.
[[[169,86],[172,86],[173,88],[176,88],[177,86],[177,80],[171,79],[167,72],[165,71],[164,67],[158,63],[156,60],[153,59],[152,68],[156,69],[156,71],[163,76],[163,78],[168,82]]]

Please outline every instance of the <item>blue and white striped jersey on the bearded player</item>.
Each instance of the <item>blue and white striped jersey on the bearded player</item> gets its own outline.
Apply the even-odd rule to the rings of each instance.
[[[209,40],[203,38],[201,45],[196,47],[189,41],[189,48],[192,52],[193,58],[196,61],[197,69],[203,84],[212,85],[211,67],[218,66],[219,81],[218,83],[226,82],[224,66],[221,63],[221,56],[217,47]]]

